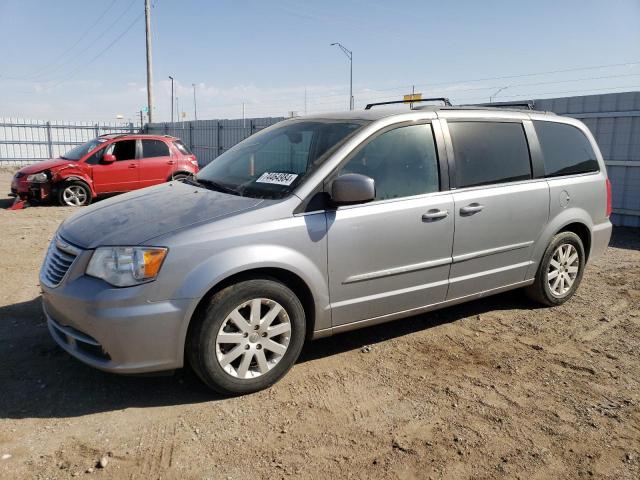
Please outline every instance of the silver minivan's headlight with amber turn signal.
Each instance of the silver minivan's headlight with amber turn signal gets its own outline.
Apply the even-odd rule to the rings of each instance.
[[[154,280],[166,255],[167,249],[160,247],[100,247],[86,273],[116,287],[130,287]]]

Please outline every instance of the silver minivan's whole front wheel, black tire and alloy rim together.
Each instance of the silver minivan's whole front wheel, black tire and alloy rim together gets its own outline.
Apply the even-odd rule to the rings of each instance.
[[[258,311],[253,318],[260,320],[252,320],[252,312]],[[272,279],[224,288],[193,322],[185,352],[189,364],[209,388],[224,395],[273,385],[298,359],[305,340],[300,300]]]

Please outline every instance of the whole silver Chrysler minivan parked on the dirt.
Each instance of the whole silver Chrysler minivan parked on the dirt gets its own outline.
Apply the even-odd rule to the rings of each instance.
[[[188,362],[240,394],[307,339],[515,288],[549,306],[574,294],[611,235],[583,123],[377,107],[280,122],[194,177],[67,219],[40,273],[55,341],[109,372]]]

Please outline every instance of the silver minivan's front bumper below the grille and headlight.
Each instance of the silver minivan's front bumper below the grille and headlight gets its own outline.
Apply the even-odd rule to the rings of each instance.
[[[148,285],[110,288],[87,276],[53,288],[42,285],[51,336],[78,360],[107,372],[182,367],[193,300],[148,302]]]

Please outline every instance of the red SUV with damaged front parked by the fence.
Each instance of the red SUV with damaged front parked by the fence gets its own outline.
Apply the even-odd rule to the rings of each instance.
[[[198,161],[179,138],[168,135],[102,135],[60,158],[18,171],[11,194],[21,200],[55,199],[88,205],[98,195],[128,192],[198,172]]]

